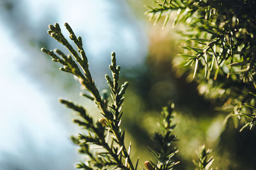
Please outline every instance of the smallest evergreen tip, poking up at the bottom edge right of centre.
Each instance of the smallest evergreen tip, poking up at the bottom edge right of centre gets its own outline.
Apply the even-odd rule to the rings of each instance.
[[[205,148],[205,145],[200,147],[200,150],[198,152],[198,160],[193,160],[196,170],[209,170],[211,168],[211,164],[214,161],[213,157],[209,157],[209,154],[211,153],[210,149]],[[211,168],[212,170],[212,168]]]

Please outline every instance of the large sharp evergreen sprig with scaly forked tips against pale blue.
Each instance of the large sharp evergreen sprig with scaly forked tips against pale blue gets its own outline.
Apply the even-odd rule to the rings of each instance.
[[[122,104],[124,103],[124,93],[127,89],[128,82],[125,82],[121,86],[118,83],[120,66],[116,66],[115,53],[113,52],[111,54],[112,60],[109,66],[112,78],[106,75],[113,100],[113,103],[109,104],[108,97],[106,95],[100,96],[99,90],[95,86],[95,82],[88,68],[88,59],[83,49],[82,38],[80,36],[77,37],[67,23],[65,23],[65,27],[70,34],[69,38],[76,44],[78,53],[63,36],[60,25],[57,23],[49,25],[48,34],[64,45],[71,55],[65,55],[58,49],[53,52],[52,50],[42,48],[42,52],[50,55],[54,62],[62,64],[63,67],[60,68],[61,71],[74,74],[79,78],[81,85],[92,95],[82,94],[82,96],[93,100],[102,115],[102,118],[95,123],[83,106],[79,106],[78,104],[64,99],[60,100],[62,104],[65,104],[68,108],[79,113],[81,119],[75,119],[74,122],[88,131],[88,134],[79,134],[71,138],[76,145],[79,145],[79,152],[90,157],[89,160],[77,164],[77,168],[137,169],[138,161],[136,166],[133,166],[130,157],[131,143],[127,149],[124,142],[125,131],[120,129],[123,114]],[[56,55],[56,53],[58,55]],[[109,137],[111,139],[109,139]],[[93,153],[92,147],[90,147],[93,145],[100,148],[100,151]]]

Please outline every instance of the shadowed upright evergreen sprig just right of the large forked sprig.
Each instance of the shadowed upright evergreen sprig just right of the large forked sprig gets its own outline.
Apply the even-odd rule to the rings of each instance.
[[[163,111],[161,111],[163,119],[159,122],[159,125],[162,132],[155,132],[153,134],[153,145],[149,147],[150,152],[154,155],[157,162],[146,161],[145,167],[147,167],[148,170],[168,170],[173,169],[173,166],[179,164],[179,162],[173,160],[173,156],[178,152],[177,148],[172,145],[176,138],[176,136],[173,135],[173,129],[176,126],[172,124],[173,109],[174,104],[170,104],[170,106],[164,107]]]

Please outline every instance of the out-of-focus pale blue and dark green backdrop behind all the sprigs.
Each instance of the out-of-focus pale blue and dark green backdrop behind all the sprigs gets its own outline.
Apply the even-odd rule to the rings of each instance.
[[[65,36],[63,24],[68,22],[83,38],[99,89],[107,88],[104,74],[109,73],[111,52],[116,52],[121,80],[130,82],[123,128],[141,167],[153,159],[147,146],[158,130],[159,111],[172,101],[179,148],[175,159],[181,161],[175,169],[194,169],[192,160],[202,145],[212,148],[218,169],[256,169],[255,145],[246,141],[256,138],[255,131],[239,133],[232,121],[224,124],[227,113],[218,109],[223,101],[202,96],[191,73],[177,67],[182,39],[177,31],[184,25],[173,28],[171,19],[165,29],[153,26],[143,4],[151,1],[0,1],[0,170],[74,169],[83,160],[69,139],[82,131],[72,124],[76,113],[58,103],[59,97],[84,104],[93,117],[100,117],[93,103],[79,96],[79,83],[40,51],[65,51],[47,35],[47,25],[54,22]]]

